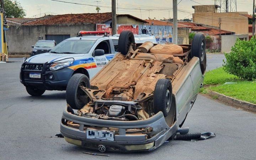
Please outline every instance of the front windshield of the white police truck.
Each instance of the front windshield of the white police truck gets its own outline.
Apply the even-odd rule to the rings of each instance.
[[[86,54],[96,41],[93,40],[66,40],[54,47],[53,53]]]

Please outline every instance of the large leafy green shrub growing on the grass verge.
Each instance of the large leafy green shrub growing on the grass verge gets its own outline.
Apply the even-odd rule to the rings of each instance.
[[[256,39],[236,40],[230,53],[225,53],[224,70],[242,79],[256,79]]]

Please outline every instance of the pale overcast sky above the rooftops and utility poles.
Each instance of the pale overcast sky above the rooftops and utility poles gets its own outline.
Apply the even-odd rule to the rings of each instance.
[[[53,0],[18,0],[23,9],[26,10],[26,17],[39,15],[40,12],[52,12],[53,14],[76,14],[76,13],[96,13],[96,6],[100,7],[100,12],[111,12],[111,0],[59,0],[79,3],[69,4]],[[98,1],[98,2],[97,2]],[[192,18],[194,13],[193,5],[213,5],[214,0],[177,0],[178,19]],[[237,11],[252,14],[253,0],[236,0]],[[172,0],[116,0],[117,14],[130,14],[138,18],[163,19],[172,18]]]

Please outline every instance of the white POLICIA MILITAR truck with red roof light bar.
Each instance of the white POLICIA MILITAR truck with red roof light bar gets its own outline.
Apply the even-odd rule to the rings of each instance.
[[[41,96],[46,90],[66,90],[72,76],[75,79],[80,75],[79,78],[87,83],[118,52],[118,34],[108,36],[106,31],[79,33],[79,36],[64,40],[48,53],[24,59],[20,82],[28,94]],[[90,36],[85,36],[88,34]],[[146,41],[156,43],[155,37],[148,35],[135,36],[134,40],[137,45]]]

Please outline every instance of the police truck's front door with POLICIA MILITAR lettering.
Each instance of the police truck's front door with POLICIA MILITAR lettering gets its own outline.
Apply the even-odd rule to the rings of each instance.
[[[100,56],[95,56],[94,52],[92,53],[92,59],[96,64],[96,66],[92,68],[92,77],[95,76],[98,71],[100,71],[114,57],[115,52],[111,46],[113,46],[112,41],[103,40],[95,47],[94,50],[103,49],[105,53]]]

